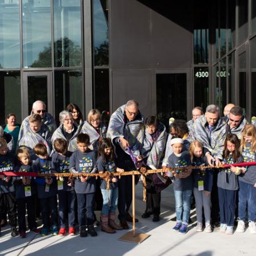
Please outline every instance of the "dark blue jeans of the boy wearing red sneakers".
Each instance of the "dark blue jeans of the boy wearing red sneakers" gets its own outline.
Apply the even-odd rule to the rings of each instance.
[[[59,217],[60,217],[60,228],[65,228],[65,223],[68,218],[69,228],[75,226],[75,202],[76,193],[75,191],[59,190]]]

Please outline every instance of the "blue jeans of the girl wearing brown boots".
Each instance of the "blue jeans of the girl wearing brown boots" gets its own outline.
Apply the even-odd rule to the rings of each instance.
[[[109,195],[107,189],[101,189],[101,193],[103,197],[101,214],[109,215],[109,213],[115,213],[118,204],[118,187],[109,189]]]

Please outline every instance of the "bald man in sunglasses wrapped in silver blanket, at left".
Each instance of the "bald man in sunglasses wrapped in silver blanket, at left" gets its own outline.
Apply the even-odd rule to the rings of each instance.
[[[32,114],[40,115],[40,117],[42,118],[42,123],[44,123],[44,125],[48,127],[51,135],[56,130],[57,126],[55,119],[52,117],[51,114],[47,113],[46,104],[44,104],[43,101],[35,101],[32,105],[31,114],[23,120],[22,125],[20,126],[18,142],[20,141],[20,138],[23,137],[23,134],[27,133],[28,127],[30,126],[28,119],[31,117]]]

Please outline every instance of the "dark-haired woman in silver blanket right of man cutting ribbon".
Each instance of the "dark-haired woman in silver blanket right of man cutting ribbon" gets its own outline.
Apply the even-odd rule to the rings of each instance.
[[[146,118],[144,124],[146,129],[141,151],[142,164],[148,169],[156,170],[160,168],[164,147],[166,146],[166,127],[163,123],[159,123],[154,115]],[[146,193],[146,210],[142,214],[142,218],[148,218],[153,214],[153,221],[159,221],[161,192],[156,190],[152,175],[146,176]]]

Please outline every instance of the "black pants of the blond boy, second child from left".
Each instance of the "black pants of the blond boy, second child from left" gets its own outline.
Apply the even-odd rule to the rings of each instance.
[[[36,211],[35,211],[35,203],[36,203],[36,195],[28,196],[21,199],[16,199],[17,210],[18,210],[18,225],[19,232],[26,232],[26,208],[27,208],[27,221],[28,228],[30,230],[36,228]]]

